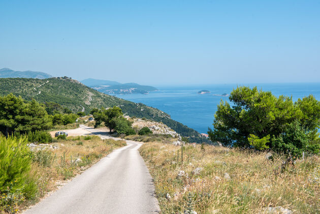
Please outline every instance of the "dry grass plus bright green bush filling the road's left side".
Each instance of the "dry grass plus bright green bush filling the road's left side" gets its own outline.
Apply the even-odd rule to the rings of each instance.
[[[0,136],[0,212],[16,213],[36,203],[113,149],[126,145],[98,136],[52,141],[27,146],[26,137]]]

